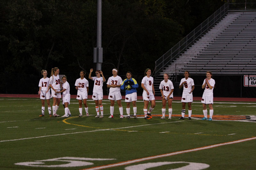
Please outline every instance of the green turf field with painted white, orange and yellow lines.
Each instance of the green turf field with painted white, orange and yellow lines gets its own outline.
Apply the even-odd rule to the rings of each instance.
[[[178,120],[180,101],[172,103],[172,120],[168,112],[160,119],[161,101],[150,120],[120,119],[117,104],[110,119],[109,100],[103,100],[104,117],[95,118],[94,101],[87,103],[89,117],[78,117],[76,99],[71,117],[47,111],[39,117],[38,98],[0,98],[0,169],[255,169],[255,102],[215,101],[213,121],[200,120],[200,101],[192,103],[191,121]],[[141,100],[137,108],[142,115]],[[64,115],[62,106],[58,114]]]

